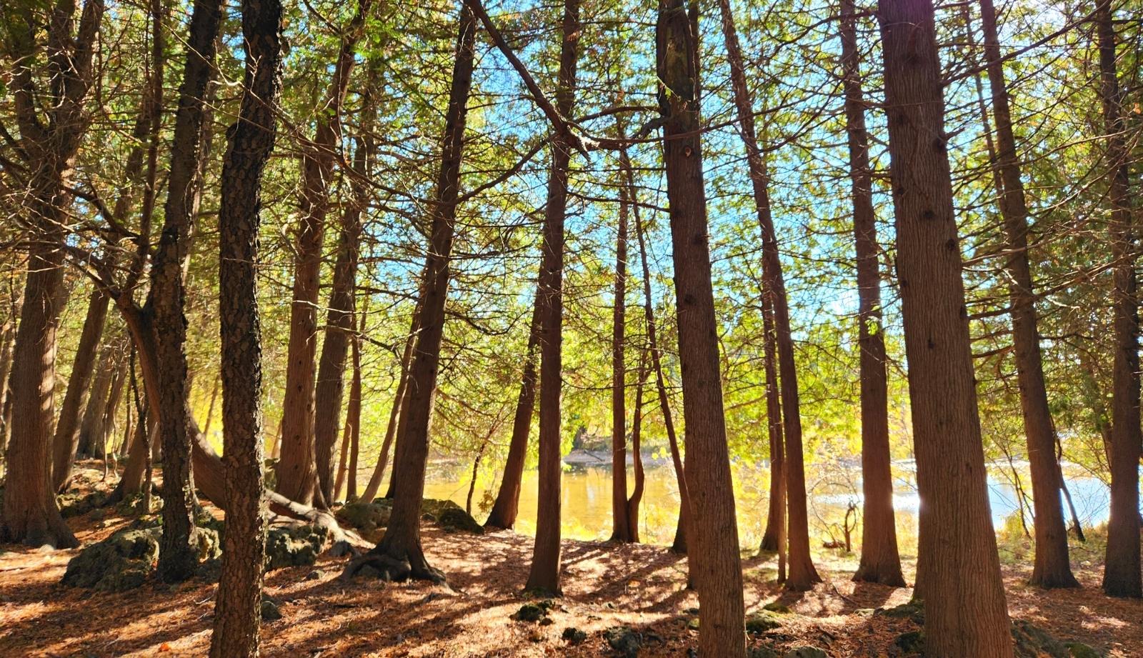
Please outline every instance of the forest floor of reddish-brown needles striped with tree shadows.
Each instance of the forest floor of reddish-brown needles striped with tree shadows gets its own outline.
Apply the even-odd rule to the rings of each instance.
[[[104,539],[130,524],[111,513],[69,520],[80,541]],[[98,515],[97,515],[98,516]],[[563,596],[546,625],[511,616],[533,601],[521,593],[531,538],[510,531],[483,536],[422,530],[431,563],[447,586],[338,578],[345,557],[319,556],[313,567],[266,575],[265,589],[281,602],[282,619],[263,624],[264,656],[314,658],[612,656],[604,632],[629,626],[645,640],[641,657],[688,656],[697,644],[694,592],[685,589],[686,559],[665,547],[598,541],[563,543]],[[59,584],[78,551],[39,552],[0,546],[0,656],[205,656],[210,641],[216,583],[202,578],[177,586],[146,584],[102,593]],[[852,555],[815,555],[825,581],[812,592],[789,593],[775,583],[773,559],[748,559],[748,611],[778,602],[790,613],[765,641],[777,649],[815,645],[831,657],[900,653],[893,644],[916,629],[909,619],[873,609],[909,601],[912,591],[857,585]],[[906,579],[912,563],[906,561]],[[1143,602],[1114,600],[1100,591],[1100,564],[1080,560],[1080,589],[1044,591],[1025,584],[1031,565],[1006,565],[1008,608],[1056,637],[1087,643],[1113,658],[1143,656]],[[566,628],[583,631],[574,644]]]

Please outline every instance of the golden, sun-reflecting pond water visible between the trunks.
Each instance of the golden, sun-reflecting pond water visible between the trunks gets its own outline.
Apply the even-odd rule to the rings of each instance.
[[[674,470],[670,462],[647,460],[646,483],[640,506],[642,540],[650,544],[669,545],[674,537],[679,513],[679,492]],[[1031,480],[1026,464],[1016,465],[1021,482],[1030,495]],[[430,468],[425,483],[429,498],[450,498],[464,506],[469,492],[471,465],[435,463]],[[1108,520],[1109,490],[1096,478],[1077,468],[1065,466],[1068,488],[1071,491],[1077,514],[1084,525],[1100,524]],[[810,531],[815,543],[842,540],[842,523],[850,503],[861,507],[861,470],[854,465],[813,465],[807,481]],[[824,472],[825,474],[820,474]],[[920,498],[917,495],[912,464],[894,465],[894,506],[897,512],[897,533],[902,551],[914,551],[917,536],[917,513]],[[992,522],[1004,527],[1009,519],[1018,516],[1016,489],[1008,481],[1009,472],[989,475],[989,499]],[[766,525],[768,507],[769,471],[765,464],[733,465],[735,504],[738,513],[738,535],[744,547],[757,545]],[[520,515],[517,531],[531,535],[536,528],[536,471],[526,471],[520,489]],[[487,473],[478,479],[472,498],[473,515],[482,521],[487,515],[491,498],[499,486],[499,473]],[[628,468],[629,495],[634,486],[634,473]],[[606,539],[612,532],[612,467],[610,464],[565,464],[561,480],[562,533],[574,539]],[[1030,504],[1030,501],[1029,501]],[[1065,511],[1066,515],[1066,511]],[[1018,523],[1018,521],[1015,521]],[[1029,514],[1029,522],[1031,516]],[[860,530],[854,535],[860,540]]]

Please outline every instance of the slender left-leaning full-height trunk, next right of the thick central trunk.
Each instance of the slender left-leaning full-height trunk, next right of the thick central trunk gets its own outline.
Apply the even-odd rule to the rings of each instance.
[[[790,330],[790,308],[788,305],[785,282],[782,276],[782,262],[778,258],[777,234],[774,231],[774,218],[770,215],[769,176],[766,162],[758,147],[758,136],[754,131],[753,101],[746,87],[746,72],[742,63],[742,48],[735,31],[734,15],[729,0],[719,0],[722,15],[722,34],[726,39],[727,59],[730,63],[730,82],[734,89],[734,103],[743,142],[746,146],[746,164],[750,169],[750,182],[754,192],[754,206],[758,210],[758,224],[762,231],[762,275],[772,295],[774,305],[774,327],[778,347],[778,371],[782,380],[782,417],[785,439],[785,480],[786,504],[789,506],[789,541],[790,541],[790,577],[786,587],[790,589],[809,589],[822,578],[814,568],[809,554],[809,516],[806,508],[806,471],[802,463],[801,446],[801,410],[798,399],[798,372],[793,356],[793,335]]]

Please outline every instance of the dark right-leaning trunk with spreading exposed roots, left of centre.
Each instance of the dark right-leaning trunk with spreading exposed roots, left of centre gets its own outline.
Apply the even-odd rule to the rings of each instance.
[[[408,399],[403,402],[408,414],[401,423],[403,427],[399,428],[400,439],[397,443],[393,475],[399,481],[394,491],[393,514],[385,529],[385,536],[362,556],[365,560],[350,563],[346,568],[349,575],[354,573],[361,565],[370,563],[395,579],[413,577],[432,581],[445,580],[443,573],[429,565],[421,546],[421,499],[424,496],[429,431],[437,375],[440,370],[440,345],[450,278],[449,260],[455,235],[464,128],[469,91],[472,88],[475,33],[475,19],[472,10],[465,5],[461,9],[457,25],[453,87],[445,115],[437,199],[432,206],[431,238],[422,288],[421,336],[409,369]]]

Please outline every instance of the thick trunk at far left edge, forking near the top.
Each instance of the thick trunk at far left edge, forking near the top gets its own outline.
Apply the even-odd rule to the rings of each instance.
[[[13,347],[11,438],[0,540],[55,548],[77,545],[51,488],[51,411],[56,328],[63,306],[63,247],[75,154],[87,133],[85,112],[93,80],[93,54],[103,19],[103,0],[88,0],[75,25],[77,1],[61,1],[47,21],[50,93],[35,85],[32,66],[40,49],[42,17],[37,6],[15,9],[5,49],[15,62],[9,81],[21,146],[27,154],[27,202],[22,224],[31,232],[19,329]],[[23,32],[26,30],[26,32]],[[43,98],[45,121],[38,102]]]

